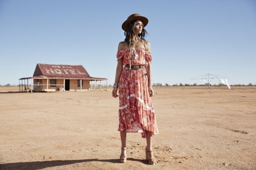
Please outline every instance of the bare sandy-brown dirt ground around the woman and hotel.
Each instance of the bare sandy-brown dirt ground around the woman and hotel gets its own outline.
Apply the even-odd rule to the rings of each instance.
[[[154,87],[156,165],[127,134],[109,91],[18,92],[0,87],[0,169],[256,169],[256,87]]]

